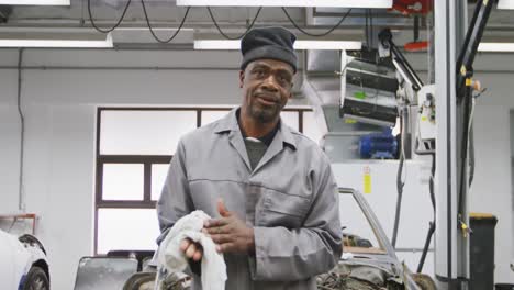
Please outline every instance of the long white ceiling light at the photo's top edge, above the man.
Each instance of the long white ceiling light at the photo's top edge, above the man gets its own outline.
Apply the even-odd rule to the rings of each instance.
[[[391,8],[392,0],[177,0],[177,5]]]

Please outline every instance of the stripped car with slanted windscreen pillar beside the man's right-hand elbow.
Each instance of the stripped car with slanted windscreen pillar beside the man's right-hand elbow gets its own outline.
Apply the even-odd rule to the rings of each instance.
[[[364,196],[339,188],[343,256],[337,267],[317,276],[324,290],[435,290],[432,278],[402,264]]]

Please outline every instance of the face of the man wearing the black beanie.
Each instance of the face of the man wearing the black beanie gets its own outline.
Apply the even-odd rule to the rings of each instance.
[[[269,123],[278,120],[289,98],[291,98],[291,65],[275,59],[257,59],[239,72],[239,87],[243,89],[243,110],[247,116]]]

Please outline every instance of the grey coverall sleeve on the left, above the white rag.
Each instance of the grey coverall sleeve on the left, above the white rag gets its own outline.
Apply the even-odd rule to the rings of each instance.
[[[191,213],[194,208],[189,194],[186,171],[186,150],[179,142],[168,169],[168,176],[157,202],[157,217],[159,220],[160,236],[157,244],[166,237],[169,228],[182,216]]]

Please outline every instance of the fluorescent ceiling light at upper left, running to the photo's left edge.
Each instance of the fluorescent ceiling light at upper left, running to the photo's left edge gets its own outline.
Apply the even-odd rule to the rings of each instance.
[[[82,36],[82,37],[80,37]],[[66,35],[64,33],[20,34],[0,33],[0,47],[69,47],[69,48],[110,48],[112,36],[110,33],[94,35]]]

